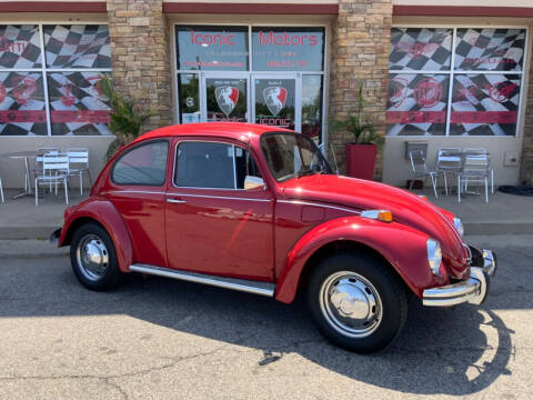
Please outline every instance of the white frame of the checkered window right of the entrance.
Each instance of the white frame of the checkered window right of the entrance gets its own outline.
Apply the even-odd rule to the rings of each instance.
[[[447,103],[446,103],[446,128],[444,134],[410,134],[410,136],[389,136],[385,131],[386,139],[406,139],[406,138],[505,138],[505,139],[516,139],[520,137],[520,129],[523,126],[523,113],[525,107],[524,102],[524,87],[527,86],[527,71],[530,69],[529,63],[529,46],[530,46],[530,27],[523,24],[475,24],[475,23],[466,23],[466,24],[440,24],[440,23],[393,23],[391,29],[403,29],[403,28],[414,28],[414,29],[451,29],[452,30],[452,43],[451,43],[451,54],[450,54],[450,69],[447,70],[394,70],[390,69],[390,64],[388,68],[388,78],[391,74],[444,74],[449,78],[449,88],[447,88]],[[459,29],[521,29],[525,31],[524,38],[524,54],[523,61],[520,71],[482,71],[482,70],[456,70],[455,69],[455,44],[457,38],[457,30]],[[520,96],[519,96],[519,104],[516,110],[516,128],[514,134],[450,134],[450,124],[451,124],[451,112],[452,112],[452,100],[453,100],[453,83],[455,74],[514,74],[520,77]],[[386,112],[386,108],[385,108]]]

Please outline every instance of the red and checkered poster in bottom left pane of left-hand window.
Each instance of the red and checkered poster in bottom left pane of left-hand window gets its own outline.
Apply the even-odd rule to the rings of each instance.
[[[47,134],[40,72],[0,72],[0,136]]]

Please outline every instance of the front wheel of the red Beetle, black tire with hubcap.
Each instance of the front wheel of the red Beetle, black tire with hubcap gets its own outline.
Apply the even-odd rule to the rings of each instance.
[[[371,254],[355,251],[321,260],[309,280],[308,307],[322,334],[359,353],[391,344],[408,316],[405,287],[391,268]],[[363,300],[358,302],[358,297]]]

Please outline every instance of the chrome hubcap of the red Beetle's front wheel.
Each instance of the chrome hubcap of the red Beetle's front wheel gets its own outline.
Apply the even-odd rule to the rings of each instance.
[[[364,338],[381,323],[381,298],[373,284],[355,272],[328,277],[320,289],[320,308],[331,327],[351,338]]]

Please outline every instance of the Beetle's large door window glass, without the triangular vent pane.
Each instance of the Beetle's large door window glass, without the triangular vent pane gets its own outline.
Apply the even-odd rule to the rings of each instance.
[[[179,187],[234,189],[233,146],[185,141],[178,146],[174,182]]]

